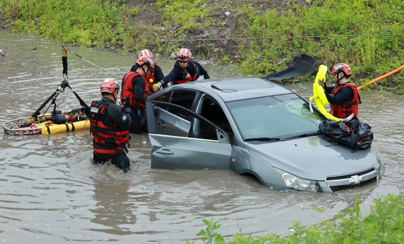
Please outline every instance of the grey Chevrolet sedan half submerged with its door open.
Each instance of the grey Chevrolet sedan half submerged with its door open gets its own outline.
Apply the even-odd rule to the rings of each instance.
[[[152,168],[231,169],[273,189],[311,192],[368,185],[384,171],[371,149],[322,138],[318,110],[262,79],[171,86],[149,96],[146,109]]]

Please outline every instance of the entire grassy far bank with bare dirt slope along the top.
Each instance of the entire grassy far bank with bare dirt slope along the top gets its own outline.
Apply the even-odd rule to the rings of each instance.
[[[248,74],[280,71],[306,53],[349,64],[360,85],[404,64],[402,35],[341,36],[403,34],[403,1],[0,0],[0,13],[3,27],[52,41],[130,42],[107,46],[164,54],[186,46]],[[265,39],[215,40],[226,37]],[[163,41],[185,39],[210,41]],[[402,72],[378,84],[404,94]]]

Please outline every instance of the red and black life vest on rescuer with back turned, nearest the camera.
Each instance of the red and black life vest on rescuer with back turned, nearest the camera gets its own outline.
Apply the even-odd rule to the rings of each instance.
[[[90,133],[93,136],[93,150],[97,153],[115,154],[125,148],[129,142],[129,131],[120,130],[117,125],[108,127],[103,123],[103,117],[108,106],[113,102],[98,104],[91,102],[90,108]]]

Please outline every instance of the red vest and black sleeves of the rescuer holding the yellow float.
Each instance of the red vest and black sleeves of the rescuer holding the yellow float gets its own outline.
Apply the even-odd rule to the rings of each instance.
[[[361,103],[361,99],[354,83],[346,82],[334,87],[327,87],[324,83],[324,90],[325,96],[330,102],[331,115],[337,118],[345,118],[352,113],[355,117],[358,115],[358,105]]]

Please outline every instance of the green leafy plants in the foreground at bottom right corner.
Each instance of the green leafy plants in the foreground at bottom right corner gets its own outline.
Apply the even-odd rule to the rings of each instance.
[[[203,220],[206,228],[197,236],[201,236],[204,243],[403,243],[404,196],[388,195],[374,199],[373,203],[367,216],[361,214],[357,192],[355,208],[348,208],[346,212],[339,212],[335,219],[312,226],[294,221],[289,228],[294,233],[286,236],[243,235],[242,227],[239,227],[239,233],[225,240],[218,232],[219,221],[213,219]]]

